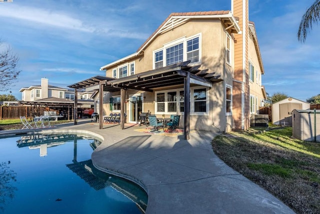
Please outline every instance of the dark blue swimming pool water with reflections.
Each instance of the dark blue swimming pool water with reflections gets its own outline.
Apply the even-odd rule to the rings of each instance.
[[[0,139],[0,213],[143,213],[142,188],[92,165],[99,143],[76,135]]]

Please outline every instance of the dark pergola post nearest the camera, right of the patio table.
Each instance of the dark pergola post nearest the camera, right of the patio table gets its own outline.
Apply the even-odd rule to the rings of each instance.
[[[184,77],[184,139],[190,139],[190,73]]]

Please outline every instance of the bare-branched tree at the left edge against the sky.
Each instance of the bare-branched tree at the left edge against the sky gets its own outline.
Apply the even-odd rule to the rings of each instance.
[[[16,69],[19,58],[11,52],[9,47],[2,47],[0,40],[0,91],[7,91],[14,86],[13,82],[17,79],[19,73]]]

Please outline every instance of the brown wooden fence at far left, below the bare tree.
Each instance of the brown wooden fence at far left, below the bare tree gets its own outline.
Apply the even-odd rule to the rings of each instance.
[[[43,115],[43,111],[47,111],[46,107],[37,107],[35,110],[30,106],[0,106],[0,120],[3,119],[19,119],[20,116],[30,118],[32,116]]]

